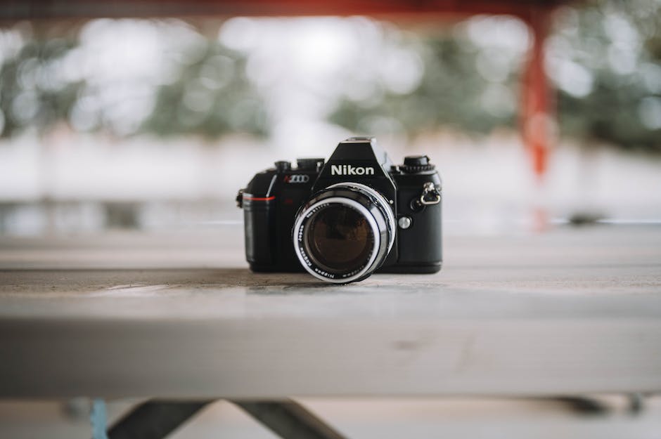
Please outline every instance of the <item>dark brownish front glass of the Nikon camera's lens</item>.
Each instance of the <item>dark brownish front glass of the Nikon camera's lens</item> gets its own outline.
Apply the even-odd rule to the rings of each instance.
[[[304,245],[307,254],[330,273],[363,267],[371,256],[374,235],[367,218],[345,204],[328,204],[310,218]]]

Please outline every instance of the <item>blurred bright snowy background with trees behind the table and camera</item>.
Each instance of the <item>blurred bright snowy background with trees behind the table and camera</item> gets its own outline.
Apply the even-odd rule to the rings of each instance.
[[[554,9],[537,174],[511,15],[6,20],[0,234],[236,225],[255,172],[353,135],[432,157],[449,233],[655,222],[661,1],[635,3]]]

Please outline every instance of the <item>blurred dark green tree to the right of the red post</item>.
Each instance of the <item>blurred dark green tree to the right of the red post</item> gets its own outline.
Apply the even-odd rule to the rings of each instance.
[[[559,11],[549,44],[561,132],[661,152],[661,2]]]

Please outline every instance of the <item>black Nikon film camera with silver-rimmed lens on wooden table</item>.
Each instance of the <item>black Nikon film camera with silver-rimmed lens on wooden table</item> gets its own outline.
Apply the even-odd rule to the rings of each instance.
[[[441,269],[441,178],[426,155],[394,165],[374,138],[353,137],[327,162],[276,162],[236,201],[255,272],[305,270],[345,284]]]

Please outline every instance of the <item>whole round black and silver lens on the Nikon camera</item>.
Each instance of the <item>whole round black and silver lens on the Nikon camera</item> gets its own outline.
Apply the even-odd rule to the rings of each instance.
[[[347,283],[378,268],[394,242],[394,215],[385,198],[359,183],[317,192],[297,215],[296,254],[319,279]]]

